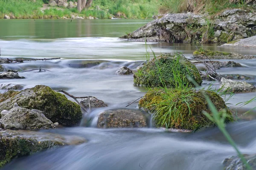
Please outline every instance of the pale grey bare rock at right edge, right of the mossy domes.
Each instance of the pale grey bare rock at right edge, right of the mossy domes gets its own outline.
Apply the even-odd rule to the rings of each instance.
[[[233,93],[256,91],[254,85],[247,82],[239,82],[231,79],[221,78],[220,91],[228,91]]]

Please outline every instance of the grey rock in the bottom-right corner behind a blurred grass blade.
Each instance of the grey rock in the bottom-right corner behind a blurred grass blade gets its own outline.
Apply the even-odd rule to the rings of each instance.
[[[247,163],[250,165],[252,170],[256,170],[256,155],[243,155],[247,160]],[[232,156],[226,158],[223,162],[224,170],[247,170],[247,167],[243,164],[239,156]]]

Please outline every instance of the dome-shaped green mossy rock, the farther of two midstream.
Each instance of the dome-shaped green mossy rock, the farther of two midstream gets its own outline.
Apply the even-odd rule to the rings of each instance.
[[[137,73],[134,74],[134,84],[163,87],[160,79],[162,77],[167,87],[173,87],[175,86],[175,76],[179,77],[184,85],[194,86],[187,77],[191,77],[199,85],[202,83],[199,71],[192,62],[183,55],[166,53],[151,59],[151,61],[140,67]]]

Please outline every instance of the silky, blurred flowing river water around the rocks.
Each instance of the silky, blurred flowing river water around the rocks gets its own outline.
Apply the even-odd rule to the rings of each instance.
[[[74,96],[95,96],[109,108],[122,108],[145,94],[133,85],[133,76],[115,75],[122,65],[131,69],[145,61],[145,42],[131,42],[118,37],[136,30],[148,20],[0,20],[0,48],[3,58],[52,58],[57,60],[4,64],[8,69],[49,71],[19,73],[26,79],[1,79],[3,84],[23,88],[48,85]],[[182,52],[191,58],[195,45],[147,43],[158,55]],[[204,48],[256,55],[255,49],[204,45]],[[153,57],[151,55],[151,57]],[[220,74],[256,77],[256,59],[234,60],[243,68],[221,68]],[[256,80],[248,81],[256,85]],[[207,85],[210,82],[204,81]],[[218,86],[218,83],[215,83]],[[0,90],[4,92],[5,90]],[[246,101],[256,93],[237,94],[231,103]],[[69,98],[70,99],[70,98]],[[129,106],[136,108],[138,102]],[[252,103],[245,110],[253,108]],[[107,108],[107,109],[109,109]],[[10,162],[4,170],[221,170],[222,161],[236,155],[217,128],[196,133],[166,132],[162,129],[95,128],[93,110],[90,127],[65,127],[52,133],[77,135],[88,140],[77,146],[61,147]],[[254,119],[249,116],[248,119]],[[86,118],[84,118],[86,119]],[[254,120],[228,125],[228,130],[243,153],[256,153]],[[47,131],[47,132],[48,132]]]

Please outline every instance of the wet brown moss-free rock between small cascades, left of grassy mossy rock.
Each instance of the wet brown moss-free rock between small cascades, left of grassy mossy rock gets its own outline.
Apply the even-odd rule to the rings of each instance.
[[[135,109],[116,109],[100,113],[97,127],[148,127],[150,116]]]

